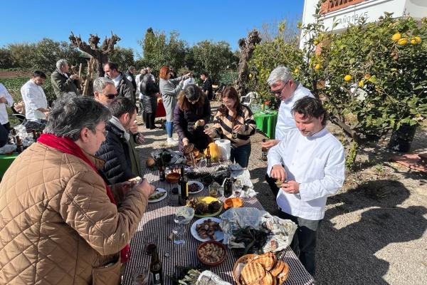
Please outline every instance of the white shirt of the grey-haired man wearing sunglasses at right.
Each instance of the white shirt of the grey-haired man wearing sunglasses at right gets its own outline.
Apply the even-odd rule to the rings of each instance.
[[[297,126],[295,125],[295,119],[293,118],[293,115],[290,113],[290,110],[292,109],[293,105],[297,100],[305,96],[310,96],[312,98],[315,97],[314,95],[312,95],[310,90],[302,86],[302,84],[300,83],[298,84],[297,88],[292,94],[292,97],[288,98],[287,100],[283,100],[280,103],[280,107],[278,111],[278,123],[276,124],[276,128],[275,128],[276,140],[282,140],[286,132],[297,128]]]

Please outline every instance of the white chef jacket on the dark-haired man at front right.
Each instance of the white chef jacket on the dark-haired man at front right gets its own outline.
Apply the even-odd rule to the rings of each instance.
[[[326,199],[344,182],[344,147],[326,128],[309,138],[290,130],[268,152],[268,175],[273,165],[285,165],[287,180],[300,183],[299,194],[279,190],[276,202],[283,212],[303,219],[325,217]]]

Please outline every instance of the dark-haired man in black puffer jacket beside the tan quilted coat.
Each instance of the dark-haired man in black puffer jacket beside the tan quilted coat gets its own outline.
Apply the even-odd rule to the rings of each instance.
[[[137,176],[132,173],[127,143],[130,140],[130,127],[137,118],[137,106],[129,99],[120,97],[115,98],[108,108],[112,118],[105,125],[107,137],[95,156],[105,160],[102,172],[111,184],[115,184]]]

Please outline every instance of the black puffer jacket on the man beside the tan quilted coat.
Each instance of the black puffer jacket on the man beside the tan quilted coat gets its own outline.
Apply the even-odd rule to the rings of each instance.
[[[128,144],[123,136],[125,132],[110,122],[105,125],[105,130],[108,131],[107,139],[95,153],[95,156],[105,160],[103,174],[110,184],[125,182],[135,177],[132,173]]]

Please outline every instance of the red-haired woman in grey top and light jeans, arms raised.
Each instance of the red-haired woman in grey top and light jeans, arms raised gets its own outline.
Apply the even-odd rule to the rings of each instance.
[[[176,96],[181,91],[184,85],[184,79],[189,78],[190,73],[179,78],[171,79],[172,73],[168,66],[162,66],[160,68],[160,93],[162,93],[164,110],[166,111],[166,131],[167,131],[167,143],[168,145],[176,145],[176,140],[172,138],[174,133],[174,108],[176,105]]]

